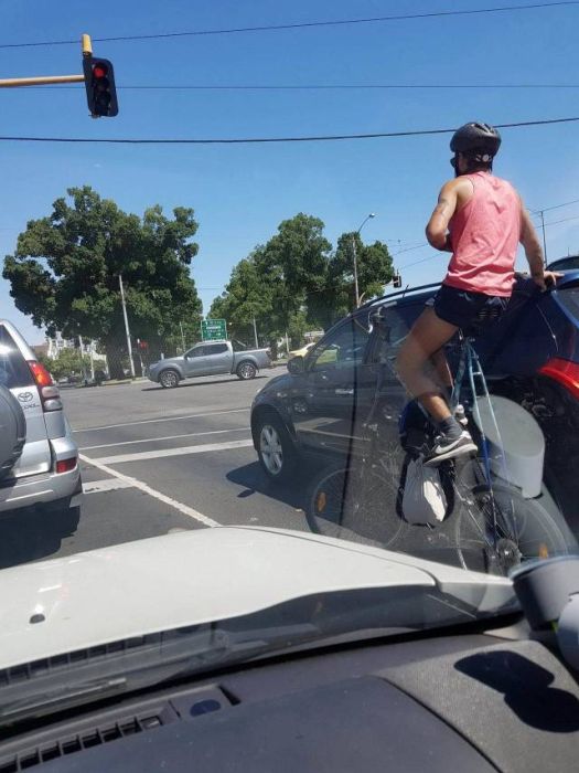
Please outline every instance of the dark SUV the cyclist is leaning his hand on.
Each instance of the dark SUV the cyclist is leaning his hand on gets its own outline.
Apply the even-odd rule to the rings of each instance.
[[[345,460],[364,455],[362,432],[384,378],[380,401],[385,442],[397,444],[407,394],[394,370],[398,349],[438,285],[394,293],[337,322],[305,356],[288,362],[251,407],[254,445],[265,474],[288,480],[315,455]],[[388,341],[372,332],[379,307]],[[546,438],[545,481],[571,527],[579,529],[579,271],[540,293],[519,276],[506,313],[475,340],[490,389],[539,422]]]

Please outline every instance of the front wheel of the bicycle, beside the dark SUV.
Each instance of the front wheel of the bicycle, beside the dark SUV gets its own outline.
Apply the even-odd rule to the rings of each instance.
[[[373,467],[322,470],[314,479],[307,518],[319,534],[392,548],[404,521],[397,512],[398,483]]]

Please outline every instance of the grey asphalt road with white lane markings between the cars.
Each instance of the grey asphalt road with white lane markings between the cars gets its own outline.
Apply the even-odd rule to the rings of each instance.
[[[36,512],[2,519],[0,568],[179,529],[250,525],[309,531],[304,508],[315,465],[300,469],[289,486],[272,484],[251,443],[251,400],[275,374],[245,382],[213,377],[174,390],[136,382],[64,391],[85,490],[78,529],[63,536]],[[361,531],[368,534],[367,528]],[[411,533],[411,543],[398,549],[431,558],[436,549],[443,560],[444,530]]]

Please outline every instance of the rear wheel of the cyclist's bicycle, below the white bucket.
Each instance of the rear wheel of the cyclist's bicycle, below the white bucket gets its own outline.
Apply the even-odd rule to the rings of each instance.
[[[455,480],[455,539],[464,569],[506,575],[523,561],[569,552],[567,539],[540,502],[510,486],[490,488],[480,480],[476,460]]]

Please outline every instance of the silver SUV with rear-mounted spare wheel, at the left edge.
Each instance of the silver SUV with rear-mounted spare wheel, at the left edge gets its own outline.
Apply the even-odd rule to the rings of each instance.
[[[0,320],[0,513],[42,506],[74,531],[82,497],[58,389],[14,326]]]

